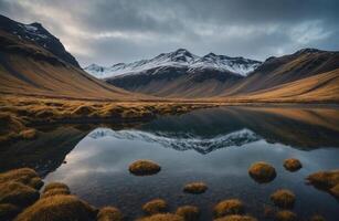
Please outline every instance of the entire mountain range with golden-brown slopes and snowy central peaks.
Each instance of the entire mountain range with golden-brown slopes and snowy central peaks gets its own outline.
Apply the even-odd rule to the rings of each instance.
[[[339,103],[339,52],[303,49],[264,62],[184,49],[110,67],[78,66],[40,23],[0,15],[0,93],[85,99]]]

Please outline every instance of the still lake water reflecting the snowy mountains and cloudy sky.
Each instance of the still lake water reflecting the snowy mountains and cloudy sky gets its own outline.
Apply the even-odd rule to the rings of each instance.
[[[329,107],[218,107],[163,116],[134,125],[63,125],[40,128],[36,140],[1,149],[1,170],[33,167],[45,182],[61,181],[89,203],[115,206],[128,220],[141,217],[141,206],[162,198],[169,210],[184,204],[201,210],[200,220],[212,220],[213,206],[237,198],[246,213],[258,220],[273,207],[279,188],[296,194],[293,209],[299,220],[321,214],[339,220],[339,200],[305,178],[319,170],[339,169],[339,109]],[[303,168],[284,169],[286,158],[298,158]],[[161,166],[155,176],[137,177],[128,166],[150,159]],[[248,176],[255,161],[267,161],[277,171],[269,183]],[[186,183],[203,181],[202,194],[182,191]]]

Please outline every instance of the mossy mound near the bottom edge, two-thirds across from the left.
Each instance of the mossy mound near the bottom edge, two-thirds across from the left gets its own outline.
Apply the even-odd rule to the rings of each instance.
[[[242,214],[244,211],[245,207],[242,201],[230,199],[221,201],[214,207],[214,217],[221,218],[229,214]]]

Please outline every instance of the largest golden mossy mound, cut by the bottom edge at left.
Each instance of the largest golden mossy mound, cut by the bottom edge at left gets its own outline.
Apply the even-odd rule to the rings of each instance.
[[[20,213],[15,221],[89,221],[97,211],[75,196],[43,198]]]

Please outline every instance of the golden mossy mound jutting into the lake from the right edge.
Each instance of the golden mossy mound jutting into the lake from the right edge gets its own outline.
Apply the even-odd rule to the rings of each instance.
[[[315,172],[306,179],[316,188],[326,190],[336,198],[339,198],[339,170]]]

